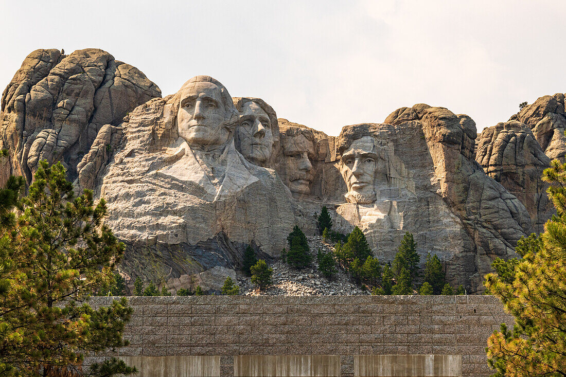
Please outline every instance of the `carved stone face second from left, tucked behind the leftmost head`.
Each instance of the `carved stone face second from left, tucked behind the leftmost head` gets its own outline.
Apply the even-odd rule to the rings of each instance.
[[[245,102],[237,132],[242,155],[256,165],[265,164],[271,157],[273,148],[273,131],[269,115],[255,102]]]

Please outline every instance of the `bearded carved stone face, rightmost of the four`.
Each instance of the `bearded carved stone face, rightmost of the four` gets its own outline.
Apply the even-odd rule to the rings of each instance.
[[[348,186],[348,193],[345,195],[348,202],[358,204],[375,202],[376,157],[374,139],[371,136],[354,140],[342,153],[340,173]]]

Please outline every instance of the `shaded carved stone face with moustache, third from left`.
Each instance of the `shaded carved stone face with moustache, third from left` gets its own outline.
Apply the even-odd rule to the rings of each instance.
[[[314,179],[311,158],[314,157],[314,145],[305,135],[286,138],[283,145],[285,154],[289,190],[296,194],[309,194]]]

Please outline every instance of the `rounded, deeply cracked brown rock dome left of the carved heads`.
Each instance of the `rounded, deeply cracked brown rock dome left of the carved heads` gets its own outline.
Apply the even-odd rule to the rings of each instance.
[[[102,50],[68,56],[36,50],[2,94],[0,147],[11,153],[10,170],[2,174],[23,175],[29,183],[38,161],[62,161],[71,179],[83,175],[80,183],[92,188],[118,143],[122,118],[160,96],[137,68]],[[101,152],[108,145],[108,153]]]

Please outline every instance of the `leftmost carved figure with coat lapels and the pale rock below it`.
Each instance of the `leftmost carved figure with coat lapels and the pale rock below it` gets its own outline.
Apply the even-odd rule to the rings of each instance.
[[[197,281],[212,268],[237,268],[248,244],[268,257],[285,247],[297,205],[274,170],[235,149],[238,122],[228,91],[208,76],[130,113],[101,195],[107,224],[131,246],[127,263],[143,260],[151,280]]]

